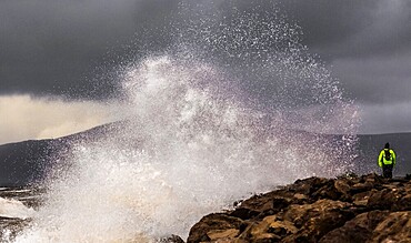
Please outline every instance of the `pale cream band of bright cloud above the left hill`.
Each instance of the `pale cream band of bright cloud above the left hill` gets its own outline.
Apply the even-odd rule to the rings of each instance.
[[[0,144],[60,138],[114,121],[114,108],[96,101],[0,97]]]

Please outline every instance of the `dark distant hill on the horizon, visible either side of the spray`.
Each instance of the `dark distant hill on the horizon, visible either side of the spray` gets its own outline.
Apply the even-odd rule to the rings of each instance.
[[[69,154],[73,142],[97,140],[109,130],[121,128],[121,124],[110,123],[59,139],[30,140],[0,145],[0,185],[27,185],[42,180],[57,158]],[[341,135],[334,135],[334,140],[340,139]],[[398,154],[394,175],[410,174],[411,133],[359,135],[359,158],[354,163],[380,172],[377,156],[387,142],[390,142]],[[368,172],[370,170],[364,170],[364,173]]]

